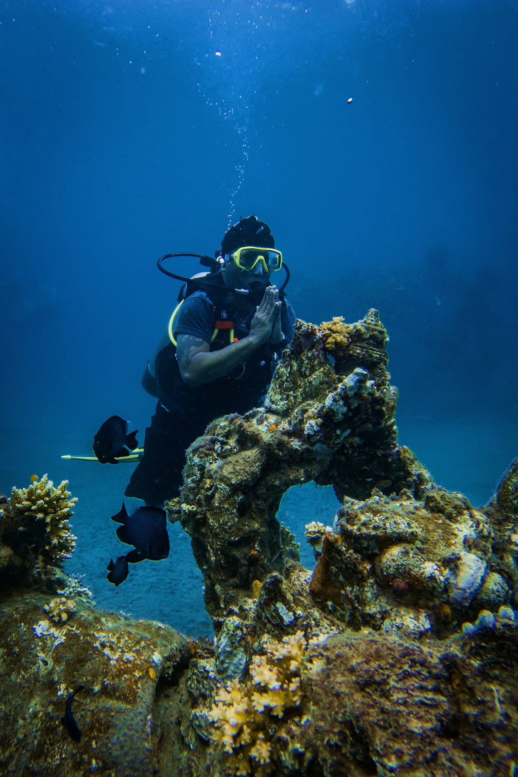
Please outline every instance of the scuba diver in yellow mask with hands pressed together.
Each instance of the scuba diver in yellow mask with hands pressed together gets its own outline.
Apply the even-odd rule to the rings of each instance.
[[[199,256],[210,272],[175,275],[162,267],[171,256]],[[215,260],[166,254],[158,267],[186,284],[142,377],[158,403],[125,495],[163,507],[182,486],[186,448],[207,425],[261,405],[273,366],[293,340],[296,317],[283,293],[289,270],[269,226],[256,216],[228,229]],[[277,288],[270,277],[281,267],[286,279]]]

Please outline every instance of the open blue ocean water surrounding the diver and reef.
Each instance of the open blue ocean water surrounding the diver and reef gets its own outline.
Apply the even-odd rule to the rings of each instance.
[[[210,633],[178,526],[106,583],[131,465],[60,457],[113,413],[143,441],[179,290],[156,260],[213,253],[241,214],[301,318],[380,310],[400,440],[491,496],[518,455],[517,33],[510,0],[0,3],[0,490],[70,481],[69,568],[100,606]],[[303,541],[335,506],[305,486],[280,520]]]

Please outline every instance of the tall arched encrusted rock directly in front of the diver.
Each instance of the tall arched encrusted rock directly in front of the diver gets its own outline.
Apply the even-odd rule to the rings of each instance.
[[[335,328],[332,342],[342,333],[353,343],[350,354],[344,346],[335,358],[328,330],[298,321],[264,408],[214,421],[187,451],[182,495],[168,504],[169,517],[192,538],[216,629],[253,595],[255,580],[288,563],[276,513],[290,486],[315,479],[356,497],[376,484],[395,493],[431,480],[397,445],[396,391],[377,312]]]

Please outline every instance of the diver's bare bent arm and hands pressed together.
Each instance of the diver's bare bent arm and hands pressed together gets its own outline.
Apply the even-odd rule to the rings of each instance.
[[[200,337],[179,334],[176,339],[176,358],[183,382],[194,388],[215,381],[242,364],[262,343],[281,342],[280,305],[277,288],[266,288],[252,319],[249,335],[221,350],[211,351],[210,343]]]

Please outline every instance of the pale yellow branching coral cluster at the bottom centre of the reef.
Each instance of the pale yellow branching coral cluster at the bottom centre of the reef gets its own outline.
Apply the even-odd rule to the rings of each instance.
[[[214,724],[210,737],[225,753],[224,772],[237,777],[266,777],[272,771],[269,716],[280,719],[287,708],[299,706],[301,672],[321,668],[308,657],[301,631],[282,642],[265,636],[261,646],[264,654],[252,658],[249,681],[221,688],[207,713]]]

